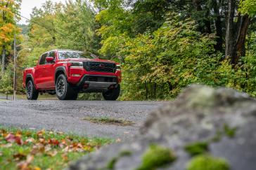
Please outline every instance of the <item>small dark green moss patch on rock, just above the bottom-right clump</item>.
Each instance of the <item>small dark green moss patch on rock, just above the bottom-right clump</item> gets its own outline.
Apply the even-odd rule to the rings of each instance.
[[[208,151],[208,143],[195,142],[195,143],[188,144],[187,146],[184,147],[184,149],[191,156],[200,155]]]

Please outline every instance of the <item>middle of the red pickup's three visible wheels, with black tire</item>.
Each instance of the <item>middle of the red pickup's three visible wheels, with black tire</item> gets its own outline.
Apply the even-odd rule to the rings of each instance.
[[[76,100],[78,92],[68,83],[67,78],[60,74],[56,80],[56,95],[60,100]]]

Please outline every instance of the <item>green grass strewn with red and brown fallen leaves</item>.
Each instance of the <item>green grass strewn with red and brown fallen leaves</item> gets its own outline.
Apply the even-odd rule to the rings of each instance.
[[[110,139],[0,126],[0,169],[63,169]]]

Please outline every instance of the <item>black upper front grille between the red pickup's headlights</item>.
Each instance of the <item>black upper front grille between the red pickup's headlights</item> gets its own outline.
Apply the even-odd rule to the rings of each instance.
[[[84,69],[87,71],[115,73],[116,66],[114,63],[108,62],[84,62]]]

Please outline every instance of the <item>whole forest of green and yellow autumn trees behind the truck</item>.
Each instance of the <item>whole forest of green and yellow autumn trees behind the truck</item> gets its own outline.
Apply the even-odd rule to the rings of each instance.
[[[122,100],[172,99],[191,83],[256,96],[255,0],[46,1],[18,25],[20,0],[0,0],[1,92],[53,48],[87,50],[122,64]],[[26,50],[31,48],[31,50]]]

